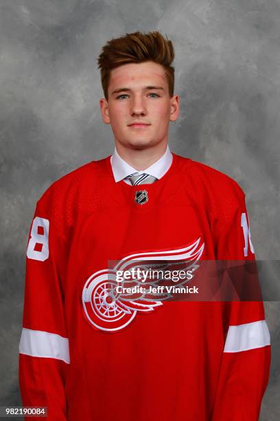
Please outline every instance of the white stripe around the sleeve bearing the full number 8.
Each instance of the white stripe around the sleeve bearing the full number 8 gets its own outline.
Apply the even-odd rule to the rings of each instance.
[[[68,338],[40,330],[23,327],[19,352],[36,357],[56,358],[67,364],[70,363]]]

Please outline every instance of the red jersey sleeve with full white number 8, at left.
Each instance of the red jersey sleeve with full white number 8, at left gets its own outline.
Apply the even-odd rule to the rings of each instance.
[[[47,420],[56,421],[67,420],[64,387],[70,358],[63,304],[66,256],[66,237],[39,200],[27,245],[19,385],[23,406],[47,407]]]

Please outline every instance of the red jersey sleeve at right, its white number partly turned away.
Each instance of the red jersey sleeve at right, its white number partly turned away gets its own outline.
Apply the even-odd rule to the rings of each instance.
[[[223,222],[215,231],[216,259],[229,264],[233,260],[255,262],[245,195],[237,184],[220,209]],[[240,283],[246,283],[245,270],[240,277]],[[259,420],[269,378],[270,333],[264,303],[253,300],[222,303],[224,349],[211,421]]]

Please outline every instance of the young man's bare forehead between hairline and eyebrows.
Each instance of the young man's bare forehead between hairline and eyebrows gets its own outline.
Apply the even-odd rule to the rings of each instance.
[[[129,83],[133,85],[141,85],[146,83],[157,82],[161,85],[166,84],[165,71],[163,66],[152,63],[129,63],[113,69],[110,73],[110,88],[115,88],[118,85],[126,85]]]

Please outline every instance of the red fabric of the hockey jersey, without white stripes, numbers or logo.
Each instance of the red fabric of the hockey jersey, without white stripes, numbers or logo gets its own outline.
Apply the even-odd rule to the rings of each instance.
[[[49,220],[49,258],[27,258],[23,327],[69,338],[70,364],[20,354],[23,405],[48,406],[48,420],[256,421],[270,346],[223,349],[229,325],[264,319],[263,303],[165,301],[115,332],[93,326],[82,303],[91,275],[135,253],[200,237],[201,259],[254,259],[244,212],[234,180],[174,153],[154,184],[115,183],[110,156],[52,184],[34,214]]]

